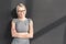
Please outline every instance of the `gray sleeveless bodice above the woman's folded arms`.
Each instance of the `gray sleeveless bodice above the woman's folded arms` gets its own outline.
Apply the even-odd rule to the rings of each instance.
[[[30,19],[26,19],[24,21],[20,21],[19,19],[13,19],[13,22],[15,23],[16,32],[29,32]]]

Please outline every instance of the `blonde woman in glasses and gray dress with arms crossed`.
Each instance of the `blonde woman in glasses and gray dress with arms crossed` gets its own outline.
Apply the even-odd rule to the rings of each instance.
[[[14,37],[11,44],[30,44],[33,38],[33,21],[25,18],[26,8],[23,3],[16,6],[18,18],[11,22],[11,34]]]

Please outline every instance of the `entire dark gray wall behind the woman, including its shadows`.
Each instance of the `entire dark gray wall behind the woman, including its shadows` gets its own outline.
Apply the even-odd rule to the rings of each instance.
[[[31,44],[66,44],[65,0],[0,0],[0,44],[12,41],[10,21],[13,9],[20,2],[26,4],[26,15],[34,21]]]

